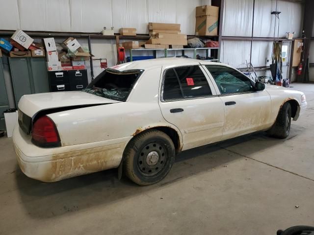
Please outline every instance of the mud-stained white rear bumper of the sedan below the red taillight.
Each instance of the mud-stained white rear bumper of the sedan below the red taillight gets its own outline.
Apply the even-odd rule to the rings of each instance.
[[[131,137],[57,148],[40,148],[20,127],[13,132],[13,144],[21,170],[28,177],[53,182],[118,167]]]

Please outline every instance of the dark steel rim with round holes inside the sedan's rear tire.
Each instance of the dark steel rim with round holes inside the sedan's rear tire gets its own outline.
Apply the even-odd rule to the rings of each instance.
[[[138,153],[137,168],[145,176],[156,176],[168,161],[167,150],[163,144],[146,144]]]

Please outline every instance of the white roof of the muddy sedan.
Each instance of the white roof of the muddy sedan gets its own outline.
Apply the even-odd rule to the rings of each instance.
[[[111,67],[110,69],[118,70],[118,71],[126,71],[126,70],[150,70],[160,67],[176,67],[183,65],[225,65],[222,63],[204,61],[204,60],[195,60],[189,58],[158,58],[158,59],[150,59],[150,60],[138,60],[129,63],[124,63],[120,65],[116,65]],[[225,65],[228,66],[228,65]]]

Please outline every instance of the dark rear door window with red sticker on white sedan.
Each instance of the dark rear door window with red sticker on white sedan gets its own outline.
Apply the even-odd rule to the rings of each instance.
[[[184,66],[166,71],[163,99],[182,99],[211,95],[208,81],[199,66]]]

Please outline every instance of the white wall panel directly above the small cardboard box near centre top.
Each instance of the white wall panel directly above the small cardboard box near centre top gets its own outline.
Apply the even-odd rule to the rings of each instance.
[[[136,28],[137,33],[147,33],[146,0],[114,0],[112,1],[112,24],[115,32],[119,28]]]

